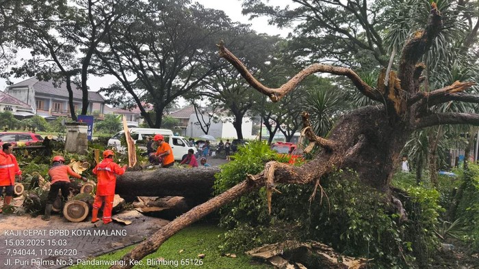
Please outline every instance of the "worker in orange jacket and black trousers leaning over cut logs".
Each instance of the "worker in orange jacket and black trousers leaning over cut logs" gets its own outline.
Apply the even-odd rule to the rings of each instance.
[[[51,208],[53,208],[53,203],[55,202],[55,199],[57,199],[58,190],[62,190],[63,201],[68,200],[68,195],[70,195],[70,178],[68,178],[68,175],[73,176],[73,178],[87,181],[86,178],[75,173],[68,165],[64,165],[63,163],[65,162],[65,159],[62,156],[53,157],[51,162],[52,165],[48,171],[51,178],[51,186],[47,196],[45,214],[42,216],[42,220],[44,221],[50,221]]]

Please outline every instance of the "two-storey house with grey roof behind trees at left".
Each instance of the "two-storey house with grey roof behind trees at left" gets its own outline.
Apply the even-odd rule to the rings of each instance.
[[[53,81],[39,81],[36,78],[27,79],[5,88],[5,93],[29,105],[32,111],[46,119],[58,116],[69,117],[68,90],[66,83],[53,85]],[[75,111],[81,109],[81,89],[73,88],[73,104]],[[94,113],[94,107],[97,107]],[[105,113],[105,99],[99,93],[88,91],[88,114],[97,114],[100,119]]]

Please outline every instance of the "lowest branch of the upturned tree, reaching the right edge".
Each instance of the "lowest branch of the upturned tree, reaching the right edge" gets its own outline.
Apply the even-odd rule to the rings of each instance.
[[[470,124],[479,126],[479,114],[435,113],[418,119],[415,128],[419,129],[442,124]]]

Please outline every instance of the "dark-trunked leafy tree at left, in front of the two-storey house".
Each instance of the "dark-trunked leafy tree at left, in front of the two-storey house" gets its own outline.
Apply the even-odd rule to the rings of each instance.
[[[32,57],[8,74],[37,76],[43,81],[53,80],[55,85],[65,83],[70,115],[76,120],[73,91],[81,89],[81,115],[86,115],[88,74],[93,72],[91,63],[96,46],[105,37],[105,29],[135,0],[31,2],[37,2],[31,5],[31,16],[42,19],[20,23],[14,42],[29,49]],[[28,5],[16,8],[29,10]]]

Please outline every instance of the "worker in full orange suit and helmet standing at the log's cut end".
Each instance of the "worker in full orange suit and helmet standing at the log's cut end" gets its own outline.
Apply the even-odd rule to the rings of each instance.
[[[96,165],[93,173],[98,179],[96,184],[96,195],[92,210],[92,223],[99,221],[98,210],[103,207],[103,223],[112,222],[113,198],[115,197],[116,175],[122,175],[127,170],[127,165],[120,167],[113,161],[114,152],[105,150],[103,152],[103,160]]]

